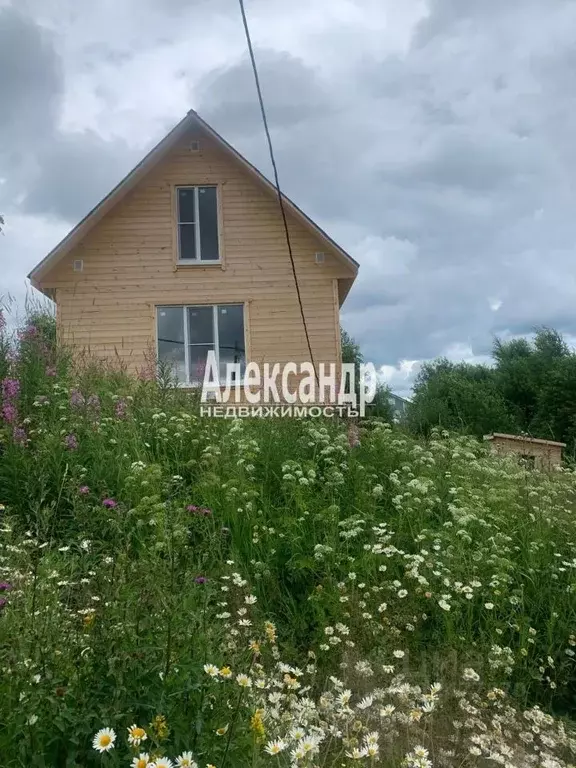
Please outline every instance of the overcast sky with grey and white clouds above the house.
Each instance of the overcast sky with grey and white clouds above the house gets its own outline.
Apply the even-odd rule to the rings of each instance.
[[[281,183],[360,262],[405,392],[576,335],[576,2],[246,0]],[[0,0],[0,296],[196,109],[269,173],[237,0]]]

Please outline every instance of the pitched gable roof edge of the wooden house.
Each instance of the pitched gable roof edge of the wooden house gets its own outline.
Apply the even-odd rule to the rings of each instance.
[[[197,112],[191,109],[186,117],[184,117],[163,139],[160,141],[147,155],[141,160],[138,165],[130,171],[130,173],[117,185],[114,189],[104,197],[98,205],[88,213],[82,221],[80,221],[74,229],[72,229],[66,237],[40,261],[34,269],[28,275],[28,278],[32,282],[35,288],[41,287],[39,281],[46,274],[49,269],[52,269],[66,254],[68,254],[72,248],[78,245],[90,232],[90,230],[96,226],[96,224],[104,218],[104,216],[111,211],[134,187],[141,181],[166,155],[178,144],[186,132],[193,127],[202,128],[209,136],[211,136],[216,144],[221,147],[225,152],[234,157],[252,177],[262,186],[264,186],[269,192],[277,196],[276,187],[272,182],[260,173],[256,166],[252,165],[245,157],[243,157],[234,147],[229,144],[219,133],[217,133],[208,123],[203,120]],[[312,221],[292,200],[286,195],[282,194],[284,204],[287,210],[292,213],[295,218],[300,221],[308,230],[312,231],[325,245],[333,250],[337,257],[339,257],[345,264],[347,264],[354,276],[360,266],[350,254],[348,254],[343,248],[341,248],[331,237],[329,237],[323,229],[321,229],[315,222]],[[353,278],[352,278],[353,279]]]

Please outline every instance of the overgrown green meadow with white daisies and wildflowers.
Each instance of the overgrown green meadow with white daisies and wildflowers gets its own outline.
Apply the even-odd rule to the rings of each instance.
[[[202,419],[42,315],[0,380],[2,768],[576,763],[573,470]]]

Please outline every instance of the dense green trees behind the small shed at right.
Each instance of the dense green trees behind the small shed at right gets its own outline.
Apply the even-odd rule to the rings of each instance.
[[[497,339],[488,365],[425,363],[408,419],[425,434],[435,426],[478,437],[523,432],[576,453],[576,353],[558,331],[541,328],[532,341]]]

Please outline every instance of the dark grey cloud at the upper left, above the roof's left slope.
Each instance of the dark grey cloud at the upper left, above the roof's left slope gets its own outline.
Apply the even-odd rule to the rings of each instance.
[[[64,74],[50,33],[0,10],[0,186],[3,213],[79,220],[135,162],[121,141],[64,133]],[[19,202],[15,202],[19,201]]]

